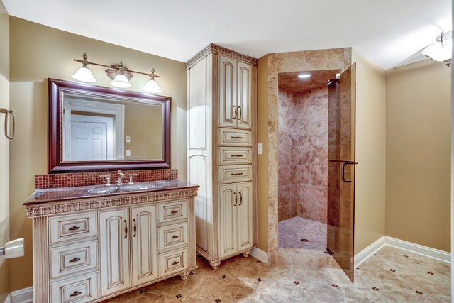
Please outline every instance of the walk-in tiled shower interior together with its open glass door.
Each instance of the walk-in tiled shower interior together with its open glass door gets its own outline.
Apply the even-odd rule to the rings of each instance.
[[[279,73],[279,251],[330,253],[353,280],[355,65]]]

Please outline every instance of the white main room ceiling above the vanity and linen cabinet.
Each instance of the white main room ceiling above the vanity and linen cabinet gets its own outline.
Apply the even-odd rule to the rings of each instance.
[[[186,62],[209,43],[253,57],[353,47],[384,69],[423,60],[451,0],[1,0],[11,16]]]

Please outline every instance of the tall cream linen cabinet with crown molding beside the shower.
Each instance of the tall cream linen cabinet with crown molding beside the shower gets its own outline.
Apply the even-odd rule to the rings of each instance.
[[[257,246],[257,59],[210,44],[187,62],[196,249],[211,267]]]

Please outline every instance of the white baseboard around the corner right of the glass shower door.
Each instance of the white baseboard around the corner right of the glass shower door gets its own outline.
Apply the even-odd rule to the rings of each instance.
[[[446,263],[451,263],[451,254],[443,250],[430,248],[428,246],[422,246],[416,243],[411,243],[389,236],[382,236],[382,238],[370,244],[370,246],[367,246],[367,248],[361,250],[360,253],[355,255],[355,258],[353,260],[355,267],[358,267],[361,263],[367,260],[367,258],[376,253],[377,250],[379,250],[383,246],[392,246],[395,248],[410,251],[411,253],[417,253],[418,255],[424,255],[428,258],[433,258]]]

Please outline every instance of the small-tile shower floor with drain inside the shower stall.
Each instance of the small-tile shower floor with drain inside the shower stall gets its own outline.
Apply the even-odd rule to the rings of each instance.
[[[279,222],[279,247],[325,250],[326,224],[295,216]],[[308,240],[307,242],[301,239]]]

